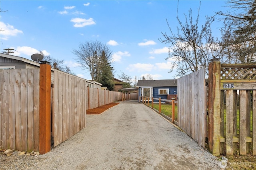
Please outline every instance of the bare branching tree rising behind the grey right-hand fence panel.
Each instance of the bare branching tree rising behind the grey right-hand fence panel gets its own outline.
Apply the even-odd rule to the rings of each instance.
[[[199,13],[194,21],[192,18],[192,10],[188,11],[188,15],[184,14],[185,22],[182,23],[178,17],[177,20],[179,26],[177,26],[177,33],[170,27],[168,21],[167,25],[170,30],[168,33],[163,33],[163,39],[160,38],[160,42],[170,44],[169,57],[166,60],[171,59],[172,66],[169,72],[172,72],[174,68],[177,68],[177,74],[175,76],[184,76],[190,72],[197,71],[201,68],[207,68],[210,59],[213,57],[220,57],[221,51],[217,43],[212,36],[211,24],[214,21],[214,16],[206,16],[206,21],[202,27],[199,26]],[[208,70],[206,69],[206,74]]]

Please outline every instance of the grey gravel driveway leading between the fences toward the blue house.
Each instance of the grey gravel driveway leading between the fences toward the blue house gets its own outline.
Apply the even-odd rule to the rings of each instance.
[[[218,169],[216,157],[141,103],[121,102],[101,115],[86,115],[86,123],[50,152],[12,155],[0,162],[0,169]]]

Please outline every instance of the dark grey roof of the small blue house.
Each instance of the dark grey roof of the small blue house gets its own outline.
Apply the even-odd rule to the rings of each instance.
[[[137,87],[177,86],[177,80],[138,80]]]

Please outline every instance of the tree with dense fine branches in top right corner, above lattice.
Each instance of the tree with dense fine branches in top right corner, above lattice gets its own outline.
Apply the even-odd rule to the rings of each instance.
[[[224,16],[226,57],[230,63],[256,62],[256,1],[230,0],[231,12]]]

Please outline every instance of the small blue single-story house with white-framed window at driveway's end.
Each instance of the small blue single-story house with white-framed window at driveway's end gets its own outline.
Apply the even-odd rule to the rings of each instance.
[[[177,80],[138,80],[137,86],[140,96],[168,99],[177,96]],[[138,98],[139,100],[139,98]],[[150,99],[150,101],[152,101]],[[155,100],[154,100],[155,101]]]

